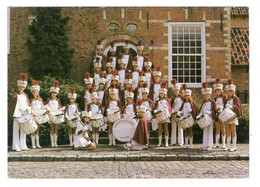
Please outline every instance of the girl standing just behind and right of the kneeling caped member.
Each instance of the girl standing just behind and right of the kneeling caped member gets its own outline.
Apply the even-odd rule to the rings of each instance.
[[[150,111],[151,115],[154,110],[154,104],[151,99],[148,98],[149,95],[149,89],[147,83],[143,84],[143,89],[142,89],[142,106],[146,106],[146,108]],[[151,116],[152,117],[152,116]],[[150,137],[150,127],[151,127],[151,120],[147,120],[147,133],[148,133],[148,139]]]

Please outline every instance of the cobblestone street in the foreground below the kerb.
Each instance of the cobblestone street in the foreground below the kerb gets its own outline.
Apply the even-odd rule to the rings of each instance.
[[[248,178],[249,161],[9,162],[9,178]]]

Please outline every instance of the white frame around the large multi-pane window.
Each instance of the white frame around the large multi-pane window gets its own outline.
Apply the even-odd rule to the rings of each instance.
[[[172,80],[172,27],[173,26],[200,26],[201,27],[201,82],[206,81],[206,35],[205,22],[169,22],[168,23],[168,85]],[[185,54],[180,54],[185,56]],[[179,56],[177,54],[176,56]],[[190,55],[189,55],[190,56]],[[190,88],[201,88],[201,83],[186,83]],[[172,86],[172,85],[171,85]]]

